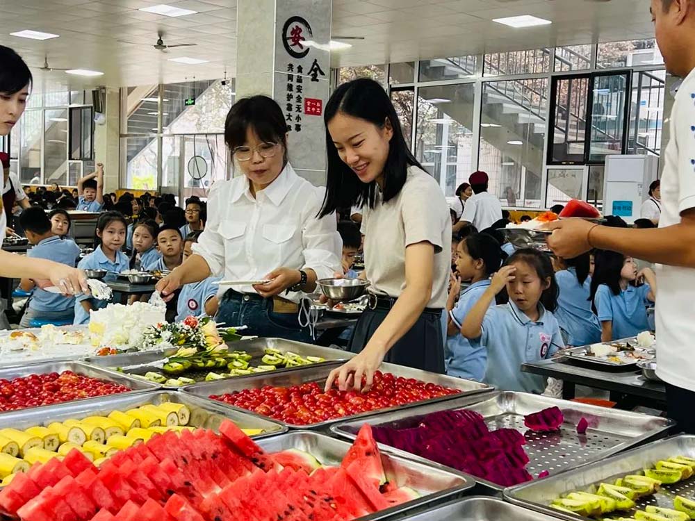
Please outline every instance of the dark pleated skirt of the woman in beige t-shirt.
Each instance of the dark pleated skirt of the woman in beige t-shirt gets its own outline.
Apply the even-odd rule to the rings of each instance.
[[[357,321],[350,351],[359,353],[384,322],[389,309],[367,309]],[[389,349],[384,362],[407,365],[414,369],[444,373],[444,338],[442,331],[441,310],[423,311],[410,331]]]

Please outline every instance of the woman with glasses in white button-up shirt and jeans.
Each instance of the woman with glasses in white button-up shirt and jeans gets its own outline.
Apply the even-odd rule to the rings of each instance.
[[[309,341],[297,321],[302,293],[341,269],[341,238],[333,215],[318,218],[325,190],[288,162],[287,124],[265,96],[237,101],[224,140],[243,176],[213,184],[205,230],[193,255],[159,281],[165,298],[208,276],[220,286],[217,320],[248,326],[247,334]]]

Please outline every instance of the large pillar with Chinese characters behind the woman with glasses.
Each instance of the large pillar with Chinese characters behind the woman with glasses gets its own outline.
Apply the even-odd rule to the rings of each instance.
[[[238,0],[236,99],[266,94],[290,134],[290,162],[326,182],[323,108],[330,93],[332,0]]]

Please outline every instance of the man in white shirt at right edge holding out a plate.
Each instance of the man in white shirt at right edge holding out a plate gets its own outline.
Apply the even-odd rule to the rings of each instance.
[[[664,154],[658,229],[615,229],[571,220],[548,245],[572,258],[593,248],[620,251],[657,266],[657,374],[666,382],[669,417],[695,433],[695,0],[651,0],[656,39],[666,67],[685,78],[671,110],[671,142]]]

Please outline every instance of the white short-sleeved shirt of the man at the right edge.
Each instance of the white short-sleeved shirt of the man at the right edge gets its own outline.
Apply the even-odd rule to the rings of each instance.
[[[683,81],[671,110],[671,140],[664,153],[659,227],[680,223],[680,214],[695,208],[695,70]],[[695,391],[695,269],[657,265],[657,374]]]

